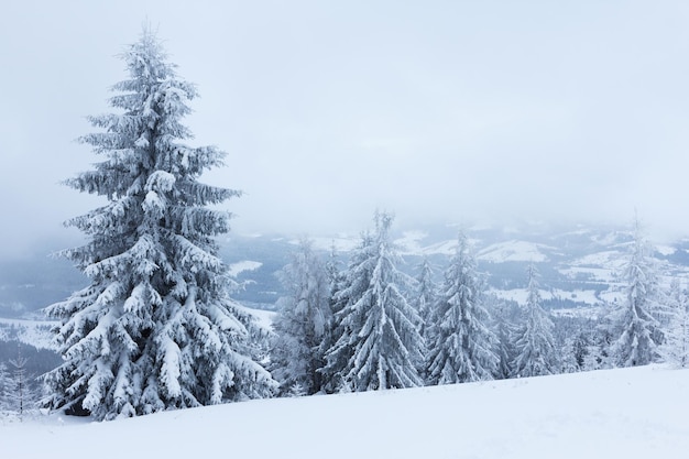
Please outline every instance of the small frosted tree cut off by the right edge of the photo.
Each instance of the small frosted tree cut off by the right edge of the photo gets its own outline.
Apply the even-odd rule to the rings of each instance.
[[[660,347],[663,360],[678,368],[689,367],[689,295],[679,280],[672,280],[668,294],[670,317]]]

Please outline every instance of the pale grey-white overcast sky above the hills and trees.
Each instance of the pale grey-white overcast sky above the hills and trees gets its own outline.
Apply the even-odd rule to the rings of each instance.
[[[200,98],[204,181],[234,231],[525,218],[689,236],[689,2],[13,1],[0,15],[0,255],[103,201],[61,186],[99,161],[147,19]]]

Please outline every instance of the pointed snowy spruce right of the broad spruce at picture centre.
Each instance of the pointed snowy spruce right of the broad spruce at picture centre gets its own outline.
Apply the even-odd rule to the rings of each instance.
[[[488,327],[484,285],[467,237],[460,233],[428,325],[429,384],[490,380],[496,373],[497,338]]]

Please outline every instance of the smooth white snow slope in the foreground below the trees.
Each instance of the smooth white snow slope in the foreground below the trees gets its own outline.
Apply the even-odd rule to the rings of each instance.
[[[0,424],[3,458],[686,458],[689,370],[636,368],[92,423]]]

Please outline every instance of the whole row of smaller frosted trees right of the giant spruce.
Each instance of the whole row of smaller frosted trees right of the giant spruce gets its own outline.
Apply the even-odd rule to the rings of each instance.
[[[598,317],[554,317],[539,274],[522,305],[491,295],[463,233],[434,283],[428,260],[412,278],[376,214],[349,264],[320,260],[303,240],[281,280],[270,368],[280,393],[315,394],[525,378],[670,362],[687,365],[687,292],[658,283],[638,225],[623,273],[625,300]]]

